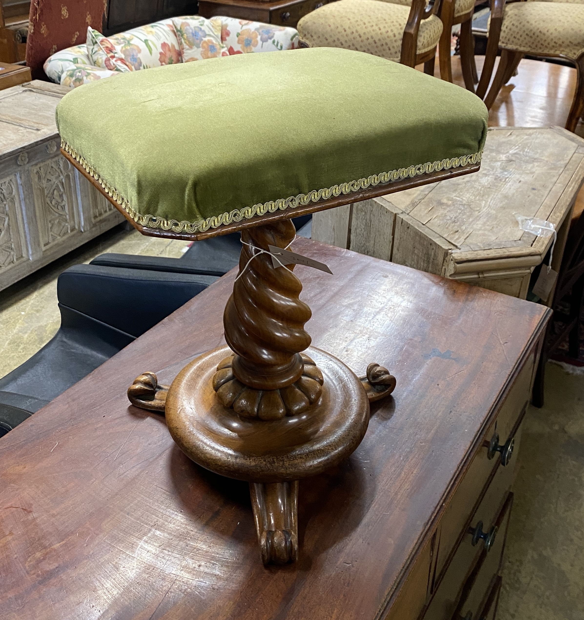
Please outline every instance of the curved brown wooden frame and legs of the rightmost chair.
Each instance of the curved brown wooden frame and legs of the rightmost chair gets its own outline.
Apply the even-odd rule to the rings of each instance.
[[[529,50],[514,51],[514,50],[501,50],[501,60],[493,78],[493,83],[488,91],[487,87],[491,80],[493,73],[493,67],[495,66],[495,58],[499,50],[499,42],[501,38],[501,25],[503,24],[503,13],[505,12],[505,0],[492,0],[491,8],[491,25],[488,33],[487,41],[487,53],[485,54],[485,64],[483,65],[483,71],[478,82],[477,95],[481,99],[484,98],[485,105],[490,109],[495,103],[495,99],[503,87],[513,76],[515,69],[521,62],[521,58],[529,53]],[[574,98],[572,100],[572,106],[568,113],[565,128],[568,131],[575,131],[578,125],[578,120],[584,113],[584,54],[578,56],[576,60],[568,58],[568,56],[562,54],[537,54],[537,56],[544,56],[546,58],[562,58],[570,63],[576,65],[576,71],[578,75],[576,90],[574,92]]]

